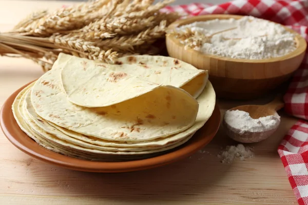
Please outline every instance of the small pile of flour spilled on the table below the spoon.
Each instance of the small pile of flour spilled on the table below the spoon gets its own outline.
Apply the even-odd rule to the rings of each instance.
[[[217,157],[222,163],[231,163],[235,158],[240,158],[241,161],[246,158],[255,156],[251,147],[244,147],[242,144],[237,146],[227,146],[224,151],[220,152]]]

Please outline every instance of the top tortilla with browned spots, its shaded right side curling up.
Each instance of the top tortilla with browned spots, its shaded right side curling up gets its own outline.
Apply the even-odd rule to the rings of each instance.
[[[61,69],[71,58],[62,56],[35,82],[31,91],[35,112],[57,126],[105,140],[147,141],[180,133],[196,120],[198,101],[172,86],[159,86],[113,106],[74,105],[68,101],[60,79]]]

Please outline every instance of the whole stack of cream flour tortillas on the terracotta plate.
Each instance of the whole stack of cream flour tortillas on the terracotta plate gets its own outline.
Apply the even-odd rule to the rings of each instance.
[[[88,160],[131,160],[188,141],[215,107],[208,73],[175,58],[104,64],[61,53],[12,106],[37,144]]]

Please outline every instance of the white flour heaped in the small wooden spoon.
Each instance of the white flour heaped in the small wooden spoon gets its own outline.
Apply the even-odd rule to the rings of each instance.
[[[224,115],[225,122],[235,129],[238,129],[239,134],[246,131],[249,132],[264,132],[276,129],[280,124],[280,116],[269,115],[253,119],[249,113],[240,110],[227,110]]]

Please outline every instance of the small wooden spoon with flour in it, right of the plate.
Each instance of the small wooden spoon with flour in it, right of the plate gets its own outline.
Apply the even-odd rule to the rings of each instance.
[[[281,99],[281,96],[278,96],[273,101],[271,101],[271,103],[268,103],[266,105],[244,105],[229,110],[245,111],[249,113],[249,115],[253,119],[258,119],[260,117],[266,117],[269,115],[274,115],[279,118],[279,115],[276,111],[283,108],[283,106],[284,103]],[[251,131],[242,132],[241,130],[228,125],[227,122],[225,121],[225,118],[223,119],[223,126],[225,127],[226,134],[230,138],[243,143],[258,142],[268,138],[277,130],[279,124],[280,120],[279,123],[275,127],[273,127],[273,129],[266,130],[263,132],[251,132]]]

